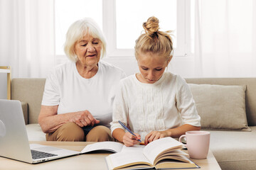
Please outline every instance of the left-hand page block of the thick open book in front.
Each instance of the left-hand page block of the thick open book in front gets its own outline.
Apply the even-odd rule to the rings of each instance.
[[[116,154],[110,154],[106,158],[107,164],[110,169],[121,169],[131,165],[151,166],[150,162],[142,152],[119,152]]]

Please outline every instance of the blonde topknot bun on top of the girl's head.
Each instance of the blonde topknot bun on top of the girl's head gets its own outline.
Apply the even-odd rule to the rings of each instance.
[[[159,30],[159,19],[151,16],[146,22],[143,23],[143,28],[146,35],[149,37],[154,37]]]

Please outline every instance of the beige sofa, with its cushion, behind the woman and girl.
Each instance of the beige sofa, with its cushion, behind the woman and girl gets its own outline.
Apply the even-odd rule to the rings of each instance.
[[[46,140],[45,134],[38,125],[45,81],[46,79],[13,79],[11,81],[11,99],[22,103],[28,138],[31,141]],[[202,127],[210,132],[210,149],[220,167],[232,170],[255,169],[256,78],[200,78],[186,79],[186,81],[191,86],[198,113],[202,118]],[[244,93],[242,94],[241,91]],[[215,106],[203,106],[209,98],[215,100],[211,104]],[[221,105],[223,103],[224,105]],[[219,108],[220,106],[223,109]],[[242,111],[246,111],[244,117],[241,117]]]

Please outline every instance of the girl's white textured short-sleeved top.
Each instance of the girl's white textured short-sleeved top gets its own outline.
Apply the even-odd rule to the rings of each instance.
[[[118,120],[139,133],[142,140],[153,130],[167,130],[183,124],[201,126],[188,84],[170,72],[164,72],[154,84],[140,82],[135,74],[122,79],[114,98],[112,132],[122,128]]]

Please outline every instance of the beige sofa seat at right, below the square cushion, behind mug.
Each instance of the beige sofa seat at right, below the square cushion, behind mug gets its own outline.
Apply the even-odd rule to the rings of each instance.
[[[221,169],[255,169],[256,126],[251,132],[207,130],[210,132],[210,150]]]

